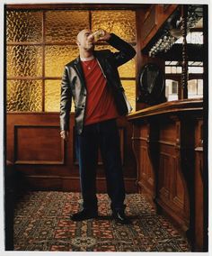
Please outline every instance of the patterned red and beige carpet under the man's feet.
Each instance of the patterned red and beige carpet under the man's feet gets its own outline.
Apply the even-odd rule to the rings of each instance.
[[[132,224],[110,218],[110,199],[98,194],[97,220],[73,222],[71,213],[81,207],[79,193],[28,192],[15,207],[15,251],[190,251],[187,240],[145,197],[126,197],[126,214]]]

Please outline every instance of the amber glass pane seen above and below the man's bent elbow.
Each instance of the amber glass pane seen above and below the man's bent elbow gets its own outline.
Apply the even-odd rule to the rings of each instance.
[[[110,45],[96,45],[95,50],[106,50],[109,49],[112,52],[116,52],[114,47]],[[127,63],[119,67],[120,78],[135,78],[136,77],[136,62],[135,59],[130,59]]]

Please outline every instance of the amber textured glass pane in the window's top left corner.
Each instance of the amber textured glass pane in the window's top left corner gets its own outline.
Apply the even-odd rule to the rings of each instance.
[[[42,41],[42,13],[7,11],[6,41]]]

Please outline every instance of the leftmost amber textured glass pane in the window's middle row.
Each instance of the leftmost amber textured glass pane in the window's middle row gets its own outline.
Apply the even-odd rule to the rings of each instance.
[[[42,49],[39,46],[7,46],[8,77],[40,77]]]

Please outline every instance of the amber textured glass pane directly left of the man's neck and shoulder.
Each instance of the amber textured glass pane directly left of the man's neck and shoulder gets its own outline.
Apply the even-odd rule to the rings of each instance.
[[[46,46],[45,76],[62,77],[64,65],[79,55],[77,46]]]

